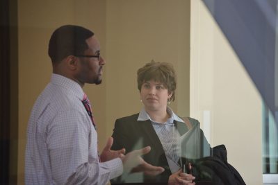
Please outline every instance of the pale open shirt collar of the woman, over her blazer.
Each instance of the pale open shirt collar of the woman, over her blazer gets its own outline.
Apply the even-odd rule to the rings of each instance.
[[[179,122],[184,123],[184,121],[181,118],[179,118],[179,116],[174,114],[174,112],[172,111],[172,109],[170,107],[167,107],[166,111],[170,115],[170,118],[167,119],[165,124],[174,123],[174,121],[179,121]],[[147,112],[145,110],[145,107],[142,107],[141,111],[139,112],[139,116],[137,118],[137,121],[147,121],[147,120],[152,121],[152,118],[150,118],[149,114],[147,114]],[[155,123],[155,121],[152,121],[152,122]]]

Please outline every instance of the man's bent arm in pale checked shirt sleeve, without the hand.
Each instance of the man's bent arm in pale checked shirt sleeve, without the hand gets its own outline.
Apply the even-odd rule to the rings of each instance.
[[[97,133],[83,112],[58,112],[47,133],[51,175],[57,184],[106,184],[122,174],[122,160],[100,163]]]

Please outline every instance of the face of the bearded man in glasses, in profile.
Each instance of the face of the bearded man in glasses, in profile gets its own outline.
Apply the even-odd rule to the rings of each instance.
[[[86,39],[88,49],[84,51],[83,55],[100,55],[100,45],[97,37],[92,36]],[[99,85],[101,83],[102,67],[106,63],[104,58],[94,57],[77,57],[79,58],[79,71],[76,79],[81,84],[89,83]]]

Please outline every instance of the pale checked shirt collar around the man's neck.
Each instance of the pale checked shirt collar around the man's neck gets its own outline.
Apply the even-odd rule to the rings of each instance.
[[[51,83],[65,88],[68,93],[74,94],[74,96],[77,96],[80,100],[83,99],[83,96],[84,96],[83,89],[74,80],[67,78],[65,76],[61,76],[61,75],[52,73]]]

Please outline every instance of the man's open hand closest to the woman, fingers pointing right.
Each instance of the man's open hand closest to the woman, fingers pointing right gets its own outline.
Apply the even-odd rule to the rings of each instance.
[[[141,155],[145,155],[149,153],[151,148],[149,146],[139,149],[133,150],[129,152],[122,158],[122,163],[124,165],[124,173],[136,173],[143,172],[145,175],[155,176],[163,173],[164,168],[160,166],[152,166],[148,164],[146,161],[140,157]]]

